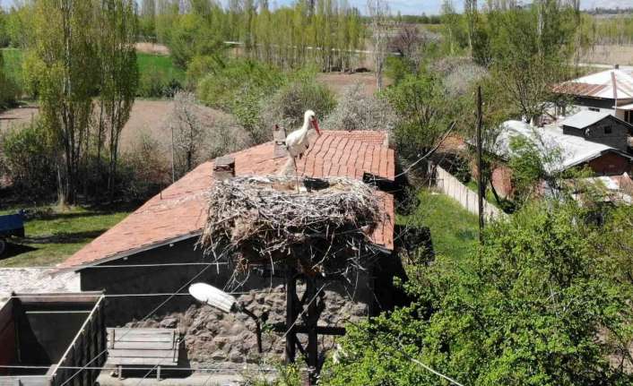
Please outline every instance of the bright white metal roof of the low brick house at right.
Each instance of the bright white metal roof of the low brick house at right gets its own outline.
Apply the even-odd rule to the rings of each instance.
[[[549,172],[566,170],[569,167],[581,165],[609,151],[633,159],[628,154],[611,148],[611,146],[585,141],[585,139],[574,135],[563,134],[562,130],[554,125],[539,128],[519,121],[507,121],[501,124],[501,132],[490,151],[499,157],[509,159],[512,156],[510,142],[516,136],[524,136],[529,139],[542,152],[543,156],[560,151],[560,159],[552,159],[549,165],[544,165]]]

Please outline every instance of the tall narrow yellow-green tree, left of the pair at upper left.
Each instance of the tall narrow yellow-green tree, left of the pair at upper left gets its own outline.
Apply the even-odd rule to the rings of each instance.
[[[58,193],[62,202],[76,202],[80,167],[92,97],[99,84],[99,57],[94,43],[98,25],[92,2],[39,0],[31,15],[33,42],[27,73],[39,94],[44,124],[56,139],[65,168]]]

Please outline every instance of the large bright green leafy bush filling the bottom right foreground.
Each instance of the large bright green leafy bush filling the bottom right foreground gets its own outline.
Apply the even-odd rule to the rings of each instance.
[[[412,305],[349,326],[324,384],[447,384],[412,358],[464,385],[631,384],[630,285],[596,247],[622,234],[584,219],[527,205],[471,255],[409,267]]]

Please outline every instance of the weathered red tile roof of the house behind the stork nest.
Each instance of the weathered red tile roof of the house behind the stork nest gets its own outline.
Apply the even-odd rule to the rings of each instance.
[[[325,132],[298,162],[299,174],[311,177],[350,176],[364,172],[394,179],[395,155],[386,133]],[[274,144],[267,142],[231,155],[237,176],[276,175],[287,158],[274,158]],[[199,235],[206,219],[205,193],[212,185],[212,162],[205,162],[145,202],[115,227],[94,239],[61,264],[61,268],[115,260],[153,247]],[[372,235],[374,243],[394,247],[394,197],[377,192],[386,220]]]

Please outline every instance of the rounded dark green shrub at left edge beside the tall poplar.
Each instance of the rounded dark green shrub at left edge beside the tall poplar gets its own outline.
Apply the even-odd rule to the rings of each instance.
[[[13,127],[0,138],[0,150],[16,193],[29,199],[56,193],[55,150],[41,121]]]

